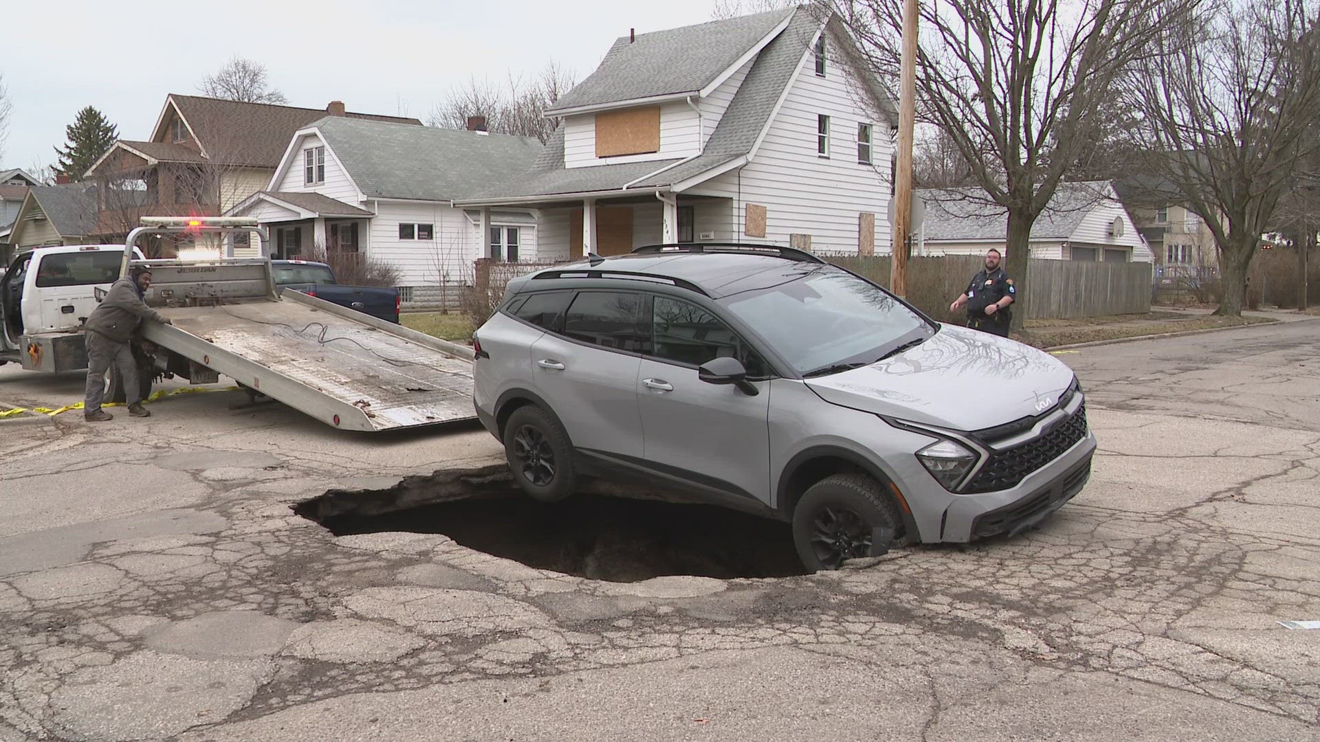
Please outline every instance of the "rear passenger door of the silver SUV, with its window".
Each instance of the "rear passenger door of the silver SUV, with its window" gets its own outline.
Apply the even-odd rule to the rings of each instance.
[[[638,367],[642,294],[579,292],[560,325],[532,343],[532,379],[578,449],[642,458]]]

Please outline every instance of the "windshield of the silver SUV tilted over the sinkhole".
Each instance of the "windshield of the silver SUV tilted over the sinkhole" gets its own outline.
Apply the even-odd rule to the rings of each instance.
[[[935,331],[879,287],[837,268],[722,300],[799,374],[879,360]],[[838,368],[843,370],[843,368]]]

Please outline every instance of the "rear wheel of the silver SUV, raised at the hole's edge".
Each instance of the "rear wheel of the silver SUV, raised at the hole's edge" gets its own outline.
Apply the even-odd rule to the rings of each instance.
[[[517,408],[504,424],[504,458],[527,496],[557,503],[576,491],[573,444],[568,432],[540,407]]]

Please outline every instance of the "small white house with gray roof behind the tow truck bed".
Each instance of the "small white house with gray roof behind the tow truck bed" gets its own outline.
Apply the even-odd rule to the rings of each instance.
[[[268,227],[276,257],[322,246],[393,264],[401,287],[458,283],[494,232],[454,201],[519,177],[540,152],[529,137],[327,116],[297,131],[267,189],[228,214]],[[499,257],[536,255],[529,211],[490,218]]]

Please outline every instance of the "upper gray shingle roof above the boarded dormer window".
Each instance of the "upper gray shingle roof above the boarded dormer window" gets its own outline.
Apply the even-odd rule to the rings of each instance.
[[[696,92],[710,84],[793,9],[619,37],[601,66],[548,114],[639,98]]]

